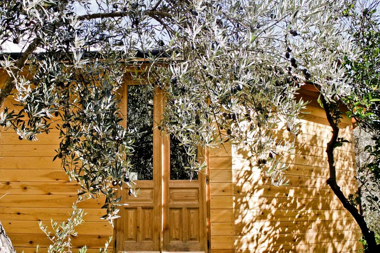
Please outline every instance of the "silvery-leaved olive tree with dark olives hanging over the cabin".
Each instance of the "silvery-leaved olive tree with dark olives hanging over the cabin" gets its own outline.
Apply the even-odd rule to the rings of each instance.
[[[134,136],[120,124],[118,88],[131,72],[144,89],[163,89],[158,128],[187,152],[227,140],[252,164],[286,184],[282,162],[293,148],[275,131],[299,131],[315,84],[327,101],[349,92],[344,60],[357,50],[339,18],[343,1],[326,0],[8,0],[0,3],[0,125],[36,140],[60,120],[57,159],[80,194],[105,196],[117,217],[117,187],[129,187]],[[9,45],[19,53],[7,54]],[[143,64],[135,58],[143,58]],[[199,170],[194,158],[191,169]],[[366,228],[362,228],[366,229]],[[364,232],[363,232],[364,233]]]

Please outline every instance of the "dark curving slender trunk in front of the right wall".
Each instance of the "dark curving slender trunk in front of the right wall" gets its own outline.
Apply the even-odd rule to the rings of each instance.
[[[362,230],[363,236],[367,241],[369,251],[375,252],[375,249],[378,247],[375,240],[375,233],[368,228],[364,217],[359,213],[356,207],[348,201],[348,199],[346,198],[346,196],[344,196],[344,193],[340,190],[340,187],[338,186],[336,182],[336,168],[335,168],[333,151],[337,143],[339,127],[337,123],[334,121],[331,115],[331,107],[328,101],[326,100],[325,96],[323,95],[322,95],[322,104],[323,104],[323,108],[325,109],[327,120],[330,126],[332,127],[332,137],[329,143],[327,144],[327,148],[326,148],[326,153],[327,153],[328,163],[329,163],[329,170],[330,170],[330,177],[329,179],[327,179],[327,184],[330,186],[335,196],[338,197],[339,201],[343,204],[343,207],[351,213],[356,223],[358,223],[360,229]]]

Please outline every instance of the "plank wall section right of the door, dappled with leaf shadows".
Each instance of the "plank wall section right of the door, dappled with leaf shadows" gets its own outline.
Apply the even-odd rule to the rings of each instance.
[[[352,140],[349,127],[340,137]],[[285,157],[286,187],[276,187],[233,147],[235,249],[237,252],[349,252],[360,249],[359,227],[330,187],[326,145],[328,126],[304,121],[295,152]],[[280,139],[287,138],[280,132]],[[353,144],[335,151],[338,184],[357,190]]]

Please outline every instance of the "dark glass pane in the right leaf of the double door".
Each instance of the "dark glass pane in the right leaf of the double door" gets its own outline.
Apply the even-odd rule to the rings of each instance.
[[[197,171],[185,169],[190,167],[191,157],[180,143],[175,136],[170,135],[170,179],[197,180]]]

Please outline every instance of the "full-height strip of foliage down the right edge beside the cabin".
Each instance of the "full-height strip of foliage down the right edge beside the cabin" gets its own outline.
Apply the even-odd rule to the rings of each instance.
[[[362,208],[369,226],[379,236],[379,226],[374,222],[380,215],[380,19],[379,1],[357,1],[344,10],[350,23],[350,33],[362,52],[357,61],[347,61],[348,75],[352,78],[353,92],[344,97],[348,115],[358,127],[368,132],[372,141],[361,151],[366,156],[365,165],[358,167],[358,182]],[[363,137],[362,137],[363,138]],[[361,141],[363,141],[362,139]],[[367,155],[368,154],[368,155]],[[379,241],[377,241],[379,244]]]

